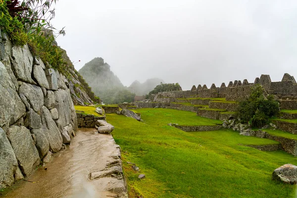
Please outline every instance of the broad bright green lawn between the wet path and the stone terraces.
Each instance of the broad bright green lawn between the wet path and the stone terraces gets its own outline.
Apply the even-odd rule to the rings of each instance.
[[[145,198],[295,197],[296,185],[274,182],[271,174],[283,164],[297,164],[296,157],[282,150],[265,152],[243,146],[278,143],[232,130],[187,133],[167,126],[170,122],[205,123],[192,112],[138,111],[145,122],[117,114],[106,117],[115,126],[112,135],[122,148],[130,198],[139,194]],[[140,173],[126,161],[136,163]],[[138,179],[139,174],[146,174],[146,179]]]

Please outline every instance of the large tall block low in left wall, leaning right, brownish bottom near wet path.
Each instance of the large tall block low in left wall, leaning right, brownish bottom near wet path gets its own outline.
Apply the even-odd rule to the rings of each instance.
[[[11,143],[23,175],[30,175],[35,167],[40,164],[38,150],[33,144],[30,130],[24,126],[10,126],[7,131],[7,138]]]

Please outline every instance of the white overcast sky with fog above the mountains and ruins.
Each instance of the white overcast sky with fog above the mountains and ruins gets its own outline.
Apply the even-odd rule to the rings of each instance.
[[[102,57],[125,86],[297,77],[296,0],[59,0],[57,39],[79,70]]]

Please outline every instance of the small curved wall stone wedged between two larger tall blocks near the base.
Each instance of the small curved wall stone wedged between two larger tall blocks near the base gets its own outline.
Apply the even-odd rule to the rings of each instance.
[[[31,130],[31,133],[35,135],[35,147],[38,150],[39,157],[43,159],[49,151],[49,141],[47,136],[40,129],[33,129]]]

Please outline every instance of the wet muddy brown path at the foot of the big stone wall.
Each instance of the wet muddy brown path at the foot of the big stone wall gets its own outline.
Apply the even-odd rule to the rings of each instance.
[[[77,132],[71,145],[52,156],[45,167],[16,184],[5,198],[110,198],[106,191],[108,178],[90,180],[90,173],[102,170],[114,147],[110,135],[98,134],[95,129]],[[34,182],[34,183],[33,183]]]

